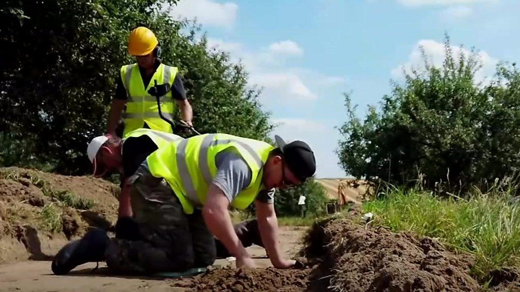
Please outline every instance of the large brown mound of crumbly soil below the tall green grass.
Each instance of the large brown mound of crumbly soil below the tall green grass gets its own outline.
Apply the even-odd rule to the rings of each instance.
[[[319,235],[321,233],[321,236]],[[432,238],[368,228],[346,219],[316,226],[307,254],[322,256],[337,291],[478,291],[470,257]],[[323,248],[326,246],[326,248]],[[318,247],[318,248],[317,248]],[[319,248],[321,247],[321,249]]]

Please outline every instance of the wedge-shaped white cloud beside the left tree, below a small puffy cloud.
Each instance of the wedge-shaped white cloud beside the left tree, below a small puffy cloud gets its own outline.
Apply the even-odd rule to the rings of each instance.
[[[264,87],[269,95],[277,99],[293,98],[297,100],[315,100],[316,95],[293,73],[251,74],[250,82]]]

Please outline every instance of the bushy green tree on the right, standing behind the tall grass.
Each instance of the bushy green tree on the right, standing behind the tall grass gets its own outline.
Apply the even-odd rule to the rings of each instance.
[[[464,189],[514,175],[520,165],[520,74],[501,64],[490,84],[476,81],[478,55],[455,56],[446,38],[445,60],[394,83],[381,109],[361,120],[345,96],[347,122],[337,154],[356,177],[408,183],[421,177],[434,188]]]

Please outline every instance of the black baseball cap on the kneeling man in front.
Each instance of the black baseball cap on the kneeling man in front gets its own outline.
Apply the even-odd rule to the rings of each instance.
[[[303,182],[314,175],[316,158],[307,143],[296,140],[288,144],[278,135],[275,135],[275,140],[283,153],[287,167],[298,180]]]

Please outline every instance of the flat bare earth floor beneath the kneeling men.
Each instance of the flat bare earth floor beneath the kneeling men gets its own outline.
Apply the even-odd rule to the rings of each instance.
[[[287,255],[292,255],[301,247],[303,227],[281,227],[280,244]],[[263,248],[252,246],[249,253],[255,258],[258,267],[271,266]],[[233,262],[219,259],[216,266],[234,266]],[[70,275],[56,276],[50,271],[49,261],[23,261],[0,265],[0,291],[188,291],[179,286],[185,280],[126,277],[108,275],[104,263],[93,271],[95,263],[77,267]],[[179,285],[176,284],[179,282]]]

